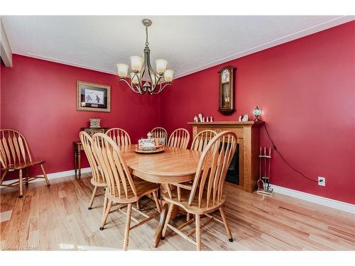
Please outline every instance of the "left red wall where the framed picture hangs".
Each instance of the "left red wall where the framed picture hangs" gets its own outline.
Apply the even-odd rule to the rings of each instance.
[[[111,86],[111,113],[77,111],[77,79]],[[133,94],[113,74],[21,55],[13,55],[12,68],[1,66],[1,100],[1,127],[23,133],[34,159],[46,160],[48,173],[74,169],[72,142],[89,118],[124,128],[133,143],[160,120],[158,97]]]

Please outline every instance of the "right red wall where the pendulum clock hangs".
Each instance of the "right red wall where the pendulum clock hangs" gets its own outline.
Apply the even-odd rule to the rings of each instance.
[[[271,183],[355,204],[355,22],[223,65],[236,70],[236,112],[218,109],[222,65],[176,79],[161,94],[163,126],[190,130],[198,113],[237,121],[258,105],[280,153],[326,187],[307,181],[273,154]],[[223,47],[221,47],[223,49]],[[261,144],[271,147],[264,130]]]

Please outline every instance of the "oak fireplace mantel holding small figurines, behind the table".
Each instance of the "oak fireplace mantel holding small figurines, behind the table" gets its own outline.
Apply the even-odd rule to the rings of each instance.
[[[259,130],[263,121],[217,121],[217,122],[188,122],[192,126],[193,136],[207,129],[216,131],[233,131],[239,143],[239,187],[246,192],[256,189],[259,176]]]

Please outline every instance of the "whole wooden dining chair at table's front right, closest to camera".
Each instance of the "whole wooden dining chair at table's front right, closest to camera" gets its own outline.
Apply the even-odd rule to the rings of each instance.
[[[163,194],[163,199],[170,205],[162,231],[162,238],[165,237],[167,228],[170,228],[175,231],[175,233],[178,233],[183,238],[190,241],[190,243],[195,244],[197,250],[201,250],[201,228],[214,220],[224,225],[229,241],[233,241],[231,231],[226,221],[226,215],[224,214],[223,205],[226,202],[224,180],[226,178],[226,171],[236,151],[236,141],[236,134],[232,131],[222,131],[217,134],[209,141],[206,148],[204,148],[199,164],[197,165],[192,187],[185,187],[185,189],[181,189],[179,193],[177,189],[173,191],[167,186],[168,192]],[[169,223],[174,205],[185,209],[188,214],[192,214],[195,217],[178,228],[175,228]],[[210,215],[216,210],[219,210],[222,221]],[[207,221],[201,223],[201,216],[206,217]],[[181,231],[182,228],[194,221],[196,228],[190,231],[190,233],[185,234]],[[196,240],[190,238],[190,235],[194,233],[196,233]]]

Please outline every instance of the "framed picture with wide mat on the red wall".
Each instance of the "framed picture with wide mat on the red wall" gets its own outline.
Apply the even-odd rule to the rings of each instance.
[[[111,112],[111,87],[78,80],[77,111]]]

